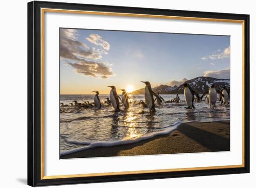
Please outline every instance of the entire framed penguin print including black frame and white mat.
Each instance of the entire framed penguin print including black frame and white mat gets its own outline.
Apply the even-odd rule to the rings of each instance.
[[[249,15],[28,3],[28,185],[249,173]]]

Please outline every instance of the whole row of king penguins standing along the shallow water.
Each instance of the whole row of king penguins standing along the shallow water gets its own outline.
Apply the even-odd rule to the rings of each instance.
[[[115,112],[119,112],[120,111],[120,101],[121,101],[124,109],[128,109],[130,104],[131,105],[132,104],[140,104],[140,105],[142,105],[142,107],[148,107],[149,112],[155,112],[155,101],[156,101],[157,105],[159,105],[159,106],[161,106],[162,102],[165,102],[165,103],[176,102],[178,104],[178,103],[184,101],[184,100],[180,99],[179,94],[176,94],[174,99],[165,101],[160,96],[159,93],[156,94],[152,90],[149,81],[141,81],[141,82],[143,82],[146,85],[144,88],[145,101],[140,100],[138,103],[136,103],[136,100],[133,100],[133,102],[132,102],[132,100],[130,100],[128,94],[126,93],[125,89],[119,89],[120,91],[122,91],[121,98],[120,98],[120,96],[116,92],[115,86],[108,86],[109,88],[111,88],[111,90],[109,93],[109,98],[108,97],[105,98],[107,100],[104,100],[104,103],[101,102],[101,100],[100,100],[99,92],[93,91],[94,93],[96,93],[94,95],[94,103],[89,103],[89,101],[84,101],[84,103],[79,103],[79,102],[77,102],[77,100],[72,100],[72,102],[74,102],[74,104],[72,102],[70,102],[69,103],[70,105],[68,105],[68,104],[64,105],[64,103],[61,102],[60,107],[64,108],[64,109],[66,107],[72,107],[76,111],[80,110],[81,108],[87,109],[87,108],[91,108],[91,107],[94,107],[96,110],[99,110],[99,109],[101,109],[102,105],[105,106],[105,103],[107,103],[108,106],[112,105],[114,107]],[[221,104],[224,104],[224,105],[229,104],[229,92],[225,86],[222,88],[222,91],[219,91],[219,90],[216,90],[215,85],[212,84],[211,87],[209,88],[209,91],[202,94],[201,97],[189,86],[188,83],[183,83],[181,86],[184,87],[184,98],[185,98],[185,102],[188,105],[188,107],[186,107],[187,109],[195,108],[194,102],[200,102],[200,100],[202,100],[202,101],[207,100],[207,103],[210,105],[210,107],[216,107],[217,100],[219,100]],[[154,99],[154,97],[155,97],[155,99]],[[203,99],[203,97],[205,97],[205,98]],[[65,112],[65,110],[61,110],[61,112]]]

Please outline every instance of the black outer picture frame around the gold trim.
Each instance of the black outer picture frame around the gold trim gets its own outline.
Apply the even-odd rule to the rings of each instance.
[[[32,1],[27,4],[28,15],[28,116],[27,116],[27,184],[30,186],[46,186],[59,184],[115,182],[129,180],[160,179],[173,177],[188,177],[201,175],[224,175],[249,173],[249,15],[231,13],[207,13],[195,11],[151,9],[121,6],[101,6],[74,3],[58,3]],[[244,166],[241,168],[202,169],[172,172],[157,172],[128,175],[101,175],[92,177],[69,177],[43,179],[41,177],[41,50],[40,50],[40,9],[54,8],[65,10],[97,11],[112,13],[135,13],[150,15],[165,15],[177,17],[193,17],[207,19],[242,20],[244,24]]]

